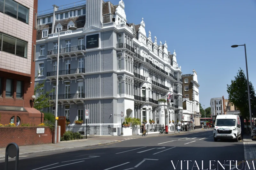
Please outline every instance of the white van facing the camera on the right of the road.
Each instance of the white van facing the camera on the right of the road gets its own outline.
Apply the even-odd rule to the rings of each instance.
[[[238,115],[217,115],[213,130],[214,142],[218,139],[241,140],[241,120]]]

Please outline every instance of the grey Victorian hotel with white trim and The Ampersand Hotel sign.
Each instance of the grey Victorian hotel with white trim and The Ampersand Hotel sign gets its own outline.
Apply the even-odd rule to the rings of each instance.
[[[128,1],[127,1],[128,2]],[[75,26],[76,30],[68,30]],[[37,17],[36,82],[44,91],[56,89],[59,59],[58,116],[70,126],[84,119],[89,109],[91,125],[120,125],[126,117],[172,125],[182,117],[181,67],[176,53],[157,42],[140,24],[127,23],[124,2],[102,0],[59,8]],[[60,31],[60,47],[58,47]],[[174,92],[174,105],[159,103]],[[55,113],[55,92],[45,111]],[[174,114],[175,113],[175,114]]]

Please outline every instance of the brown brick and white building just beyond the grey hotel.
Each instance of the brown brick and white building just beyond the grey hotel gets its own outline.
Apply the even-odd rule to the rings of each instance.
[[[190,115],[190,120],[194,120],[195,125],[200,125],[200,109],[199,109],[199,84],[197,80],[197,73],[193,70],[193,74],[182,75],[182,94],[183,94],[183,106],[186,108],[192,104],[192,110],[188,111],[184,109],[184,113]],[[189,102],[189,101],[192,101]],[[183,114],[183,117],[188,117]],[[184,119],[185,121],[185,119]]]

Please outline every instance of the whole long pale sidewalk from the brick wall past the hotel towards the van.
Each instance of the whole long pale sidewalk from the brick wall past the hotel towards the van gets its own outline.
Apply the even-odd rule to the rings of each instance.
[[[205,131],[212,129],[195,129],[191,131],[180,131],[180,134]],[[166,135],[174,135],[178,134],[177,131],[168,132],[168,134],[159,134],[152,133],[148,134],[146,137],[158,137],[158,136],[166,136]],[[102,144],[109,144],[114,142],[119,142],[123,140],[130,140],[136,138],[142,138],[142,135],[132,135],[132,136],[87,136],[88,139],[82,140],[73,140],[73,141],[64,141],[57,144],[39,144],[39,145],[28,145],[28,146],[19,146],[20,156],[28,155],[34,153],[42,153],[42,152],[52,152],[52,151],[61,151],[66,149],[74,149],[74,148],[82,148],[82,147],[90,147],[97,146]],[[145,138],[145,137],[144,137]],[[5,157],[5,148],[0,148],[0,159]]]

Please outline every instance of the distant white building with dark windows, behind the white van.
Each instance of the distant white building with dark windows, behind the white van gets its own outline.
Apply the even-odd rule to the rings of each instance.
[[[211,115],[225,115],[225,99],[224,96],[211,99]]]

